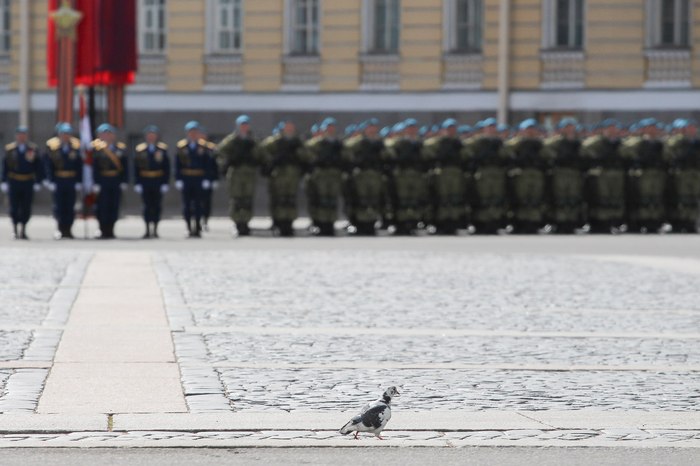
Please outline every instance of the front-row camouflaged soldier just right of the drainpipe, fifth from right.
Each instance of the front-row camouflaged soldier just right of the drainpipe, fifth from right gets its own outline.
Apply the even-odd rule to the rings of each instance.
[[[508,141],[511,169],[508,171],[513,226],[519,233],[537,233],[544,226],[546,160],[537,122],[530,118],[519,126],[519,134]]]

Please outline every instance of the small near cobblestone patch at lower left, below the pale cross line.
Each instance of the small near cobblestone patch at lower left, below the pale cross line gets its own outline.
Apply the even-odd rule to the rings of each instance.
[[[17,369],[0,396],[0,413],[33,413],[46,382],[48,369]]]

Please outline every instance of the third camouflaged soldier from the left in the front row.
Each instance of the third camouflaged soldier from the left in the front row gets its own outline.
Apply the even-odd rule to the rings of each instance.
[[[310,168],[306,195],[314,233],[333,236],[343,182],[343,142],[336,134],[335,119],[326,118],[321,124],[321,131],[321,136],[306,144]]]

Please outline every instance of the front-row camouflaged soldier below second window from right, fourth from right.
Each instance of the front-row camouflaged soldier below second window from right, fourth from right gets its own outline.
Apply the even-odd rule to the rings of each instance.
[[[558,134],[545,140],[548,164],[548,204],[557,233],[573,233],[583,227],[583,158],[578,123],[572,118],[559,122]]]

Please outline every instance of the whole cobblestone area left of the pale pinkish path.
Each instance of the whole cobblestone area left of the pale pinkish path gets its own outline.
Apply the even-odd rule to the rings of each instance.
[[[3,248],[0,262],[0,413],[33,412],[91,254]],[[14,369],[17,368],[17,369]]]

